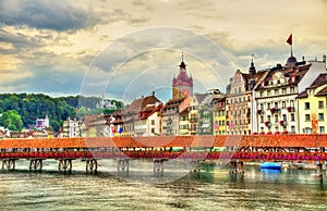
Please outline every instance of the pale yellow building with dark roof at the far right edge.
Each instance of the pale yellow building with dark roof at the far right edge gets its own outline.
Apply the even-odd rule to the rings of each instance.
[[[300,134],[325,134],[327,127],[327,73],[298,97],[298,128]]]

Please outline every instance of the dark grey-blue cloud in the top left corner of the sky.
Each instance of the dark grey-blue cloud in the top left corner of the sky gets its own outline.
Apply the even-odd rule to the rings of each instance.
[[[85,11],[66,1],[1,1],[0,22],[26,25],[39,29],[74,30],[94,26],[99,21],[92,11]]]

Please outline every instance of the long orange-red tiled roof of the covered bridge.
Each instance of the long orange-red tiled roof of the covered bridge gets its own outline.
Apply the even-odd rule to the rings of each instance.
[[[0,149],[126,147],[327,147],[327,134],[0,139]]]

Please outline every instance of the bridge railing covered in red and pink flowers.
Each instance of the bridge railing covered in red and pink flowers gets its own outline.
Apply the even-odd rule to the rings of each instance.
[[[241,159],[241,160],[306,160],[327,161],[327,152],[267,152],[267,151],[63,151],[63,152],[1,152],[0,159]]]

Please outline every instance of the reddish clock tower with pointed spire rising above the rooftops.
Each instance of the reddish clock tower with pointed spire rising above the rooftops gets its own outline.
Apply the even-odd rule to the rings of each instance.
[[[179,74],[172,79],[172,99],[185,98],[193,95],[193,78],[186,73],[183,54],[179,66]]]

